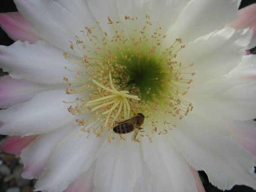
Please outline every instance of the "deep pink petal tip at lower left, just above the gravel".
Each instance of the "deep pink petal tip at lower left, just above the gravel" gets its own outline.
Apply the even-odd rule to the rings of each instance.
[[[21,151],[30,144],[37,135],[34,136],[8,136],[5,140],[1,150],[12,153],[12,154],[20,154]]]

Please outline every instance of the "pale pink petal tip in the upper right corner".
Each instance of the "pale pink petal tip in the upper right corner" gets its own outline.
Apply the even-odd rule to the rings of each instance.
[[[238,15],[239,17],[230,23],[230,26],[235,29],[245,29],[248,27],[253,29],[252,40],[248,47],[251,49],[256,46],[256,4],[240,9]]]

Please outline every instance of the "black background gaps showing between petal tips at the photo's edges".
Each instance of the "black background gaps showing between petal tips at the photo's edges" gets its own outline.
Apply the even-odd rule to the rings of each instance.
[[[256,3],[256,0],[242,0],[240,8],[248,6],[249,4]],[[12,0],[0,0],[0,12],[12,12],[17,11],[15,4]],[[255,13],[256,14],[256,13]],[[11,45],[14,41],[12,41],[8,35],[0,28],[0,45]],[[251,49],[252,53],[256,53],[256,49]],[[3,73],[0,71],[0,76],[7,73]],[[206,192],[223,192],[218,190],[218,188],[211,185],[208,181],[207,175],[203,171],[199,171],[200,178],[203,182],[203,186]],[[3,184],[3,181],[0,181],[0,185]],[[0,188],[1,191],[1,188]],[[252,190],[252,188],[246,186],[234,186],[231,190],[226,190],[225,192],[256,192]]]

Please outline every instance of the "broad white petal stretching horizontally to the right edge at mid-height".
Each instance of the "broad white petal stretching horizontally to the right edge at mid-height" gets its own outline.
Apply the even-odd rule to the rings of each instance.
[[[255,94],[254,80],[222,78],[192,85],[184,99],[193,104],[193,113],[209,119],[251,120]]]

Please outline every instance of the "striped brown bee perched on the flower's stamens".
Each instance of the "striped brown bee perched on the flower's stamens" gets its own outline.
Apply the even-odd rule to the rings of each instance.
[[[125,134],[132,132],[134,128],[142,129],[140,127],[144,123],[144,118],[145,116],[142,113],[137,113],[136,116],[118,123],[118,125],[113,128],[113,131],[115,133]]]

